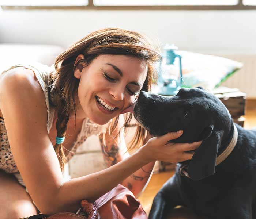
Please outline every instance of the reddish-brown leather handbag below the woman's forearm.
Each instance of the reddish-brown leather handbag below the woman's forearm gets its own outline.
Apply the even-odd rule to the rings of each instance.
[[[117,185],[94,203],[86,199],[75,213],[58,212],[54,215],[38,214],[20,219],[147,219],[139,200],[123,185]]]

